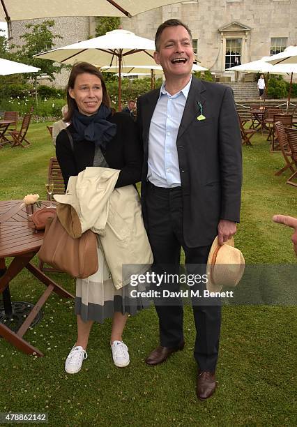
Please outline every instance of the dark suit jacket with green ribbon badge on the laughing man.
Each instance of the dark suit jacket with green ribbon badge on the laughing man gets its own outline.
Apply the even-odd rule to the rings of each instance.
[[[142,207],[147,225],[148,133],[160,95],[150,91],[137,100],[137,123],[144,146]],[[197,120],[202,105],[205,120]],[[208,246],[220,219],[239,222],[241,208],[241,133],[230,87],[192,77],[176,139],[183,192],[183,237],[190,248]]]

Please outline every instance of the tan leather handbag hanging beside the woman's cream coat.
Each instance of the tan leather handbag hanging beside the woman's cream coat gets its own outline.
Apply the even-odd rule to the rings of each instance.
[[[87,278],[98,270],[97,236],[86,230],[73,239],[61,225],[58,216],[47,219],[45,237],[38,251],[41,261],[75,278]]]

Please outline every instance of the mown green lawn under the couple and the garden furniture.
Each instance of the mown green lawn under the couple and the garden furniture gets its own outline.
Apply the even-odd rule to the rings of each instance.
[[[45,197],[48,159],[54,155],[46,124],[31,125],[31,147],[0,150],[1,200],[21,199],[26,193]],[[294,268],[292,232],[272,223],[271,217],[273,213],[296,216],[297,190],[285,184],[289,174],[274,176],[283,163],[280,154],[270,153],[261,135],[255,135],[252,142],[254,147],[243,147],[243,202],[236,246],[243,251],[247,264],[291,264]],[[74,281],[66,274],[51,276],[75,292]],[[22,271],[11,283],[10,292],[14,300],[35,302],[43,285],[29,271]],[[294,295],[291,297],[294,301]],[[128,321],[125,343],[131,363],[127,368],[112,364],[110,329],[110,320],[94,325],[89,359],[79,374],[66,374],[64,360],[76,334],[73,301],[53,294],[43,308],[43,320],[24,337],[45,357],[27,356],[0,340],[0,412],[48,412],[50,426],[296,425],[293,303],[224,306],[219,387],[204,403],[195,396],[195,325],[188,306],[185,350],[154,368],[144,364],[146,354],[158,344],[158,319],[153,308]]]

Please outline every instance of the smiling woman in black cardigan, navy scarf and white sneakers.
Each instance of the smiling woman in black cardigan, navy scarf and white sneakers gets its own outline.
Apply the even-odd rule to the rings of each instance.
[[[96,67],[84,62],[73,66],[67,103],[66,121],[70,121],[70,126],[56,138],[56,157],[65,186],[70,176],[79,174],[88,166],[120,170],[116,187],[140,181],[142,151],[135,123],[127,114],[112,113],[105,82]],[[113,286],[109,272],[98,271],[98,274],[105,277],[98,278],[95,274],[85,283],[77,279],[77,341],[66,359],[67,373],[77,373],[82,368],[91,326],[94,321],[102,323],[107,317],[112,317],[110,345],[114,364],[123,367],[130,362],[128,347],[122,340],[123,329],[128,313],[134,314],[142,306],[134,305],[133,311],[127,306],[123,290]]]

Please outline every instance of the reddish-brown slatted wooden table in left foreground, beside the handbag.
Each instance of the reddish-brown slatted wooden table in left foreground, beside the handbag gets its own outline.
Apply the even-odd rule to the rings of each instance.
[[[32,222],[27,218],[26,211],[24,207],[21,207],[21,204],[22,200],[0,201],[0,271],[3,274],[0,277],[0,294],[3,293],[3,304],[9,310],[8,285],[24,268],[28,269],[47,288],[17,332],[13,332],[0,322],[0,336],[24,353],[43,356],[43,353],[24,340],[23,336],[52,292],[56,292],[64,298],[73,298],[73,295],[31,264],[30,261],[43,243],[43,231],[36,232],[33,230]],[[42,202],[43,207],[47,207],[48,204],[49,202]],[[13,257],[13,260],[6,269],[5,259],[8,257]]]

